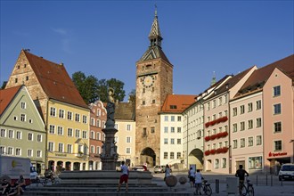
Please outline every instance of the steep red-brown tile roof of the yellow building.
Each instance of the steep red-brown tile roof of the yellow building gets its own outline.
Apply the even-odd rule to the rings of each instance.
[[[62,63],[56,64],[47,61],[28,51],[24,51],[24,53],[49,98],[88,109]]]

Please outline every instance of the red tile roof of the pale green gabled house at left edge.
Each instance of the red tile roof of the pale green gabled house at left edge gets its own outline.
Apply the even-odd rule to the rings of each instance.
[[[22,86],[15,86],[0,90],[0,115],[2,115],[9,103],[12,102],[14,96],[19,92],[21,87]]]

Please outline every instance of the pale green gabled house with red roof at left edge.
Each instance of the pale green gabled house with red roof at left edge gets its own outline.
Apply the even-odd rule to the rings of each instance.
[[[26,86],[0,90],[0,154],[29,158],[45,168],[45,124]]]

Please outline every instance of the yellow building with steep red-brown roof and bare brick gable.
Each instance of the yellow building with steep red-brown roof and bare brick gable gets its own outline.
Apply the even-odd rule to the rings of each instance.
[[[21,50],[6,88],[25,85],[45,121],[45,167],[88,169],[89,108],[64,65]]]

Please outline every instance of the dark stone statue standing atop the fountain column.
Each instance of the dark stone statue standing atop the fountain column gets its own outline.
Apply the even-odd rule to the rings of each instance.
[[[110,87],[108,91],[108,102],[106,105],[106,110],[107,110],[107,120],[105,124],[106,129],[114,128],[114,125],[115,125],[115,121],[114,121],[115,101],[114,101],[113,95],[114,95],[114,89]]]

